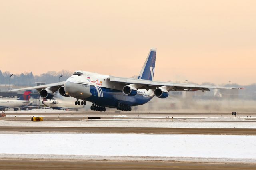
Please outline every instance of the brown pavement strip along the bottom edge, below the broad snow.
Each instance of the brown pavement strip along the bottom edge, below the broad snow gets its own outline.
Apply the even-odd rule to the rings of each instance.
[[[0,160],[0,169],[10,170],[255,170],[256,164],[220,164],[164,161],[66,161],[66,160]]]

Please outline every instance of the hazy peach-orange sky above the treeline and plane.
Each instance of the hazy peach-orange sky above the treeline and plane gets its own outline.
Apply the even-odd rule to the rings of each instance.
[[[255,0],[0,0],[0,69],[256,83]]]

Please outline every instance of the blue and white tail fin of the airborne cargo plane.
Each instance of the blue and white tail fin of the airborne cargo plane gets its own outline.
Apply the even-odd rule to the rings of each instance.
[[[156,48],[150,49],[148,57],[140,71],[138,79],[142,80],[153,80],[155,73],[155,63],[156,63]]]

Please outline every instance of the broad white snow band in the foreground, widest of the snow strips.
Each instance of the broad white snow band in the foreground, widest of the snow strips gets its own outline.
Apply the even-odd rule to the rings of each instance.
[[[0,134],[0,154],[152,156],[256,160],[256,136]]]

